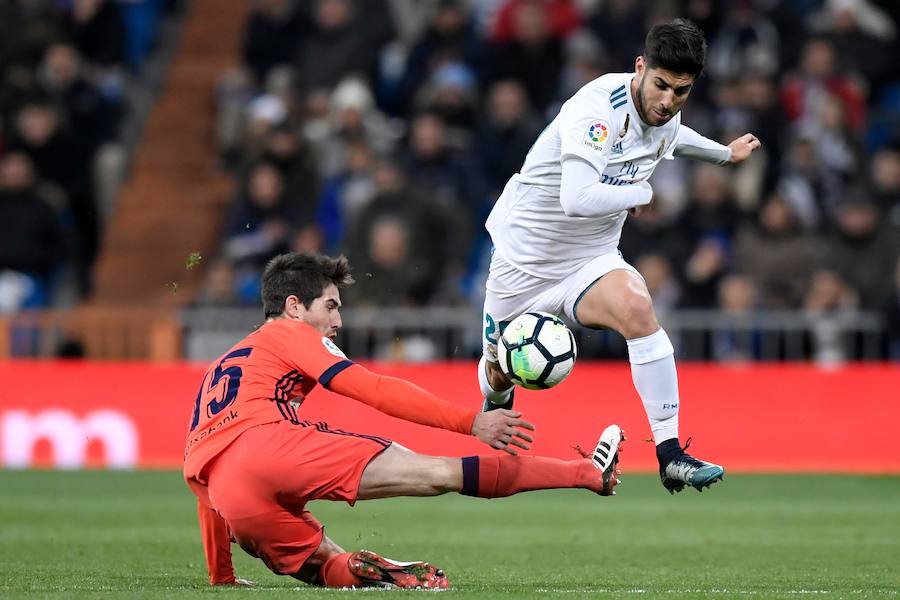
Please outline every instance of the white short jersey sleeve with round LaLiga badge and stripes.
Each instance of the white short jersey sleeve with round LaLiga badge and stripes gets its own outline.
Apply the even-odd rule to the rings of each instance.
[[[561,159],[578,157],[602,173],[616,139],[616,114],[608,99],[573,98],[559,115]]]

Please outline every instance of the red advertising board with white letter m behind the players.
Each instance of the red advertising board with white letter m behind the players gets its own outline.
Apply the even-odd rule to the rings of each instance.
[[[0,466],[178,467],[205,365],[0,363]],[[475,363],[372,365],[468,406],[480,405]],[[900,473],[900,365],[679,368],[682,441],[737,471]],[[626,471],[655,467],[649,426],[627,364],[579,363],[559,387],[520,390],[516,407],[537,425],[532,453],[573,458],[603,427],[629,435]],[[413,425],[324,390],[301,417],[388,437],[419,452],[495,452]]]

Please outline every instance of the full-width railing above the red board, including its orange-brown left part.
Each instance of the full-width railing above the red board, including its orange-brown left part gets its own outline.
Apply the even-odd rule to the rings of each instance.
[[[356,358],[409,362],[471,359],[481,351],[481,311],[471,307],[348,308],[338,339]],[[881,315],[844,311],[662,312],[678,357],[713,361],[883,360]],[[0,358],[210,360],[262,323],[256,308],[29,311],[0,318]],[[620,335],[574,327],[580,358],[623,359]]]

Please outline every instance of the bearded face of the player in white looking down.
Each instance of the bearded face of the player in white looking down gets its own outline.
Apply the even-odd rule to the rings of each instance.
[[[684,106],[696,77],[651,69],[643,56],[635,61],[635,71],[637,76],[631,84],[631,92],[641,119],[653,127],[665,125]]]

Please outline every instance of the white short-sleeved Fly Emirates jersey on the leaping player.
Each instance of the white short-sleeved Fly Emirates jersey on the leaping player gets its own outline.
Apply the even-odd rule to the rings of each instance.
[[[646,125],[631,97],[634,73],[609,73],[575,93],[544,129],[488,216],[495,251],[517,269],[560,279],[585,260],[615,252],[627,211],[569,217],[559,201],[563,157],[588,161],[600,180],[633,185],[673,158],[677,113],[661,127]]]

